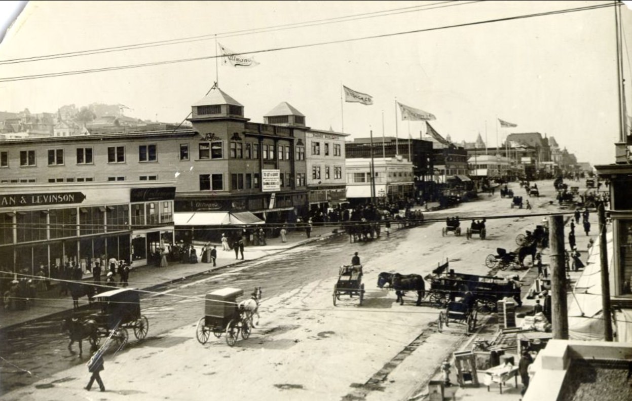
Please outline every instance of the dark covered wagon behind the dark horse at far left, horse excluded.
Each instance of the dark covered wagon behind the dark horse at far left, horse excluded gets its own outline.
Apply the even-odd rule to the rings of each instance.
[[[100,337],[111,337],[120,345],[128,342],[128,330],[142,340],[149,332],[149,321],[140,313],[138,289],[123,288],[102,292],[94,296],[99,313],[89,316],[97,324],[97,342]]]

